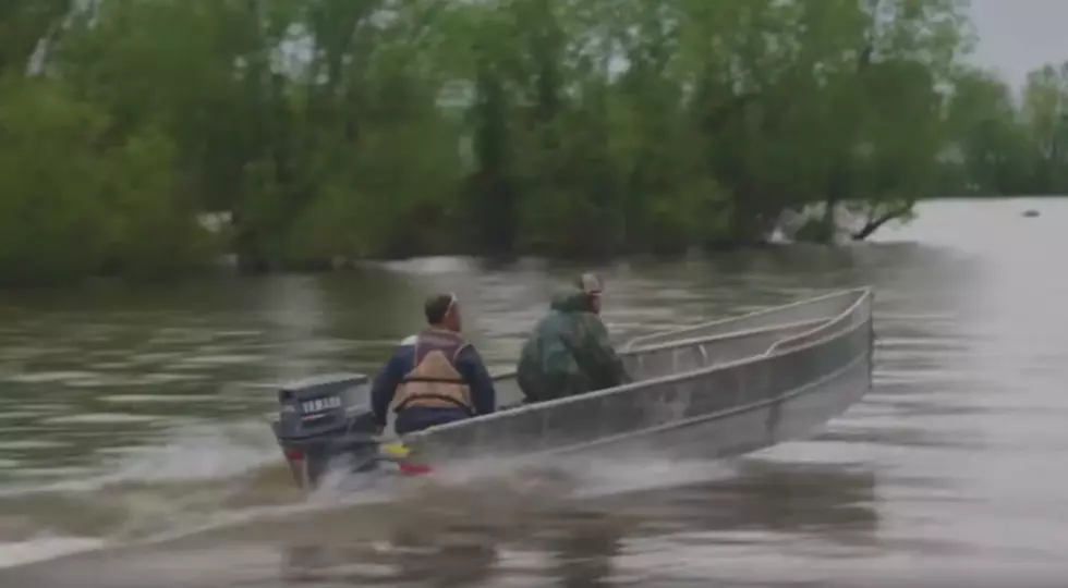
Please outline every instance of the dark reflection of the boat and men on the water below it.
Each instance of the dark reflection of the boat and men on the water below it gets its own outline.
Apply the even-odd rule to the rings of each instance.
[[[742,464],[719,482],[615,495],[582,504],[513,502],[495,511],[468,502],[417,517],[401,514],[385,547],[345,546],[344,537],[286,550],[291,581],[353,585],[375,579],[433,586],[482,586],[507,572],[558,586],[608,586],[635,571],[616,562],[635,544],[645,552],[700,542],[739,546],[747,534],[781,534],[839,549],[875,544],[878,515],[871,471],[839,467]],[[541,555],[541,561],[532,559]],[[536,563],[536,565],[531,565]],[[641,574],[641,571],[636,571]],[[651,581],[655,579],[648,578]]]

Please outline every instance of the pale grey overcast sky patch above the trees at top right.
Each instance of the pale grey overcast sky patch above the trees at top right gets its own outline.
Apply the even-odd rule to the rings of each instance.
[[[1068,0],[972,0],[974,60],[1019,87],[1029,70],[1068,61]]]

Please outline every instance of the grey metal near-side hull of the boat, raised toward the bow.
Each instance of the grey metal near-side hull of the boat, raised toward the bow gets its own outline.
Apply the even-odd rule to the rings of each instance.
[[[684,453],[692,445],[708,455],[731,455],[797,439],[871,388],[871,292],[857,291],[845,311],[814,324],[646,347],[704,362],[664,376],[655,371],[669,366],[657,366],[632,384],[435,427],[404,441],[416,460],[444,465],[487,457],[521,463],[624,446]],[[721,360],[709,346],[740,357],[725,351]]]

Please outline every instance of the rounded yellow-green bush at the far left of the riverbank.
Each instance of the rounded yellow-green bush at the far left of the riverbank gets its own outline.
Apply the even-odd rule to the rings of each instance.
[[[110,128],[60,84],[0,82],[0,283],[157,277],[202,258],[170,139]]]

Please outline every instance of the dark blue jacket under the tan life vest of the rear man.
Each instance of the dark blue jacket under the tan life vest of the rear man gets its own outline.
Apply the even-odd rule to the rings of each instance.
[[[375,421],[380,427],[386,426],[389,416],[389,405],[393,402],[393,393],[404,376],[414,368],[415,338],[410,336],[401,342],[393,356],[386,362],[375,383],[371,389],[371,409]],[[497,392],[493,379],[486,371],[478,352],[471,345],[465,346],[457,356],[457,371],[471,389],[471,403],[475,415],[488,415],[496,409]],[[418,431],[435,425],[451,422],[472,416],[460,408],[437,408],[429,406],[411,406],[397,414],[393,428],[398,434]]]

